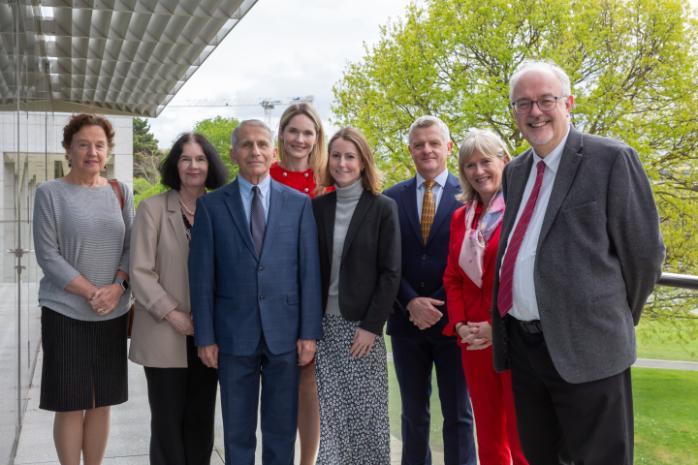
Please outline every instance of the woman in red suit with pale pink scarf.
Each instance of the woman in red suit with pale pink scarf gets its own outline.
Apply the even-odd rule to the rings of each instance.
[[[492,284],[504,214],[502,172],[509,162],[504,142],[471,129],[458,151],[465,205],[453,213],[444,287],[449,324],[457,334],[473,404],[481,465],[526,465],[519,443],[511,374],[492,365]]]

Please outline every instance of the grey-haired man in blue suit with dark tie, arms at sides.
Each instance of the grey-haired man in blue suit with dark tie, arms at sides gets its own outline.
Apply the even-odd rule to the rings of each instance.
[[[199,357],[218,368],[225,463],[253,465],[260,379],[262,462],[292,465],[298,366],[321,337],[318,241],[307,196],[269,176],[271,130],[233,131],[237,179],[197,202],[189,279]]]

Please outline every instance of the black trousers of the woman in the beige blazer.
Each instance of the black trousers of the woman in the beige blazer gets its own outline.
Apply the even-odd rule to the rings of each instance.
[[[187,337],[187,368],[145,367],[151,465],[209,465],[218,374]]]

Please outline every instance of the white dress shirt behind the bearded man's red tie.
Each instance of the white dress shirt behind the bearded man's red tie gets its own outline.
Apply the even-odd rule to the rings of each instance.
[[[540,237],[540,230],[543,226],[545,212],[548,210],[550,194],[553,191],[555,176],[557,175],[558,167],[560,166],[560,158],[562,158],[562,151],[565,148],[565,143],[567,142],[567,136],[569,133],[570,130],[568,126],[567,134],[565,134],[565,137],[562,139],[560,144],[555,147],[553,151],[550,152],[545,158],[539,157],[535,150],[533,150],[533,164],[531,165],[531,171],[528,174],[526,188],[524,189],[523,197],[521,198],[521,203],[519,204],[519,211],[516,212],[514,227],[511,229],[511,233],[507,238],[508,247],[511,236],[513,235],[514,230],[516,230],[516,225],[519,224],[521,214],[524,211],[526,202],[531,196],[533,185],[536,182],[536,165],[542,160],[543,163],[545,163],[543,184],[541,186],[540,193],[538,194],[536,207],[533,209],[531,222],[528,224],[526,234],[521,242],[521,248],[519,249],[519,254],[516,257],[516,265],[514,266],[512,307],[509,314],[518,320],[540,320],[538,300],[536,299],[536,287],[533,279],[533,271],[536,263],[536,249],[538,247],[538,238]]]

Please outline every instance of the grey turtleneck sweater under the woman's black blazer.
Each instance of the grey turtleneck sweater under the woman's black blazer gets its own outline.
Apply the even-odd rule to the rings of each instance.
[[[341,315],[339,311],[339,266],[342,262],[344,239],[356,205],[359,203],[364,186],[361,178],[347,187],[337,187],[337,209],[334,214],[334,234],[332,237],[332,263],[330,265],[330,287],[327,292],[327,315]]]

